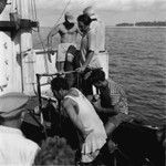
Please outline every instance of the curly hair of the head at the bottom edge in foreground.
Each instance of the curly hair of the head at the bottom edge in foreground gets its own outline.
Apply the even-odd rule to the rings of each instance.
[[[48,137],[34,158],[33,166],[39,165],[74,165],[74,152],[66,139]]]

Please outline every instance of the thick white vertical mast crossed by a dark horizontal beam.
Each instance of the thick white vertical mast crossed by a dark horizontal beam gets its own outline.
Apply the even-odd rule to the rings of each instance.
[[[19,0],[21,19],[31,19],[30,0]],[[32,49],[32,28],[21,29],[20,33],[20,48],[22,59],[22,81],[23,92],[33,95],[34,85],[34,56]]]

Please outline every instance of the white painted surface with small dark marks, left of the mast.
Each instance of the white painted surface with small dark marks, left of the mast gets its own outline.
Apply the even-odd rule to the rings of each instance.
[[[21,92],[21,65],[17,43],[11,41],[9,32],[0,31],[0,94]]]

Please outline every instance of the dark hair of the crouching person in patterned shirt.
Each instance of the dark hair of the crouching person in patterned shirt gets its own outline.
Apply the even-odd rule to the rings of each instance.
[[[104,81],[105,80],[105,73],[102,69],[95,69],[92,71],[91,76],[90,76],[91,83],[94,84],[98,81]]]

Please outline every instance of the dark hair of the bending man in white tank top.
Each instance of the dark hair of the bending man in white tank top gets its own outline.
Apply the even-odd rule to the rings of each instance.
[[[51,90],[60,91],[60,90],[69,90],[69,84],[66,79],[56,76],[51,81]]]

